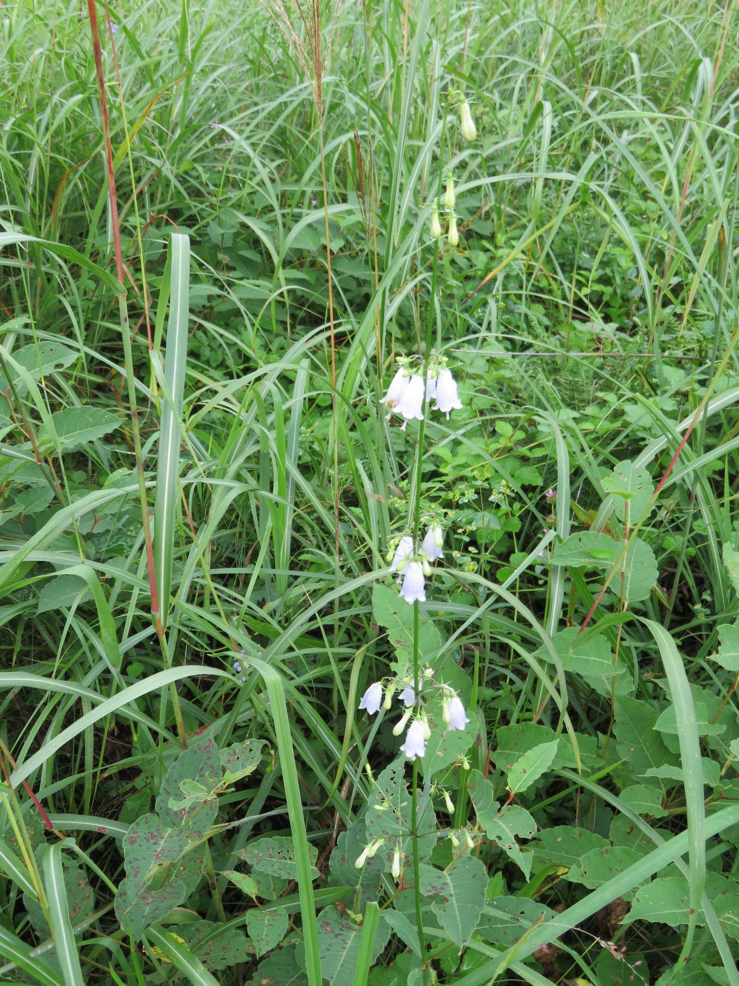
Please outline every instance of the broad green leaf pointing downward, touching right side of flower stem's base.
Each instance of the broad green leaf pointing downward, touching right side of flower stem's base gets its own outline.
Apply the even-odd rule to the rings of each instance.
[[[474,934],[485,907],[487,885],[484,864],[466,853],[445,870],[421,867],[421,892],[433,898],[434,913],[457,949],[462,949]]]

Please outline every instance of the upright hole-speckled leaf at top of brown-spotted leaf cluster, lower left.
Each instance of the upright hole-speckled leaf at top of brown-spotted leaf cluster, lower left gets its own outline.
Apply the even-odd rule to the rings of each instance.
[[[172,802],[175,805],[181,802],[183,795],[187,799],[181,788],[182,781],[195,783],[211,792],[211,798],[191,803],[186,808],[174,808]],[[222,786],[223,770],[218,746],[211,739],[193,742],[169,767],[157,798],[157,813],[172,828],[186,829],[189,838],[200,839],[218,814],[215,792]]]

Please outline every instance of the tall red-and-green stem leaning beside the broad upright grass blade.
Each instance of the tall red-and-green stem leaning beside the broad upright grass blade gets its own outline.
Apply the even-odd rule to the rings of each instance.
[[[95,57],[95,72],[98,78],[98,96],[101,105],[102,117],[102,136],[105,144],[105,167],[107,171],[107,196],[110,204],[110,224],[113,231],[113,251],[115,254],[115,273],[120,281],[121,287],[125,284],[125,271],[123,268],[123,251],[120,246],[120,225],[118,223],[118,202],[115,194],[115,173],[113,170],[113,152],[110,144],[110,125],[107,116],[107,98],[105,96],[105,78],[102,72],[102,52],[101,35],[98,28],[98,10],[96,0],[88,0],[88,16],[90,18],[90,32],[93,35],[93,55]],[[149,501],[146,492],[146,475],[144,472],[144,457],[141,451],[141,432],[139,430],[139,410],[136,404],[136,377],[133,369],[133,352],[131,349],[131,326],[128,320],[128,306],[126,305],[125,292],[118,296],[118,315],[120,317],[120,334],[123,340],[123,361],[126,371],[126,385],[128,388],[128,406],[131,415],[131,434],[133,437],[133,448],[136,457],[136,472],[139,481],[139,500],[141,502],[141,520],[144,526],[144,541],[146,544],[146,562],[149,575],[149,592],[152,599],[152,619],[157,631],[162,652],[165,657],[167,667],[170,667],[167,642],[165,638],[165,628],[162,623],[162,616],[159,608],[159,597],[157,594],[157,580],[154,571],[154,549],[152,547],[152,528],[149,523]],[[174,715],[177,722],[177,733],[182,746],[187,746],[187,739],[184,732],[182,712],[179,705],[177,689],[172,683],[169,686]]]

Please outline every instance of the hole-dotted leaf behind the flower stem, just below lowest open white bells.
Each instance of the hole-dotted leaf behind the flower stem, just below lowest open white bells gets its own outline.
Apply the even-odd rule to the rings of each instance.
[[[405,758],[399,757],[385,767],[372,786],[365,814],[368,841],[385,840],[375,854],[384,860],[385,873],[392,869],[396,848],[406,859],[413,859],[410,834],[413,799],[405,779],[405,764]],[[423,862],[431,856],[437,842],[437,816],[431,805],[423,811],[420,805],[417,808],[418,852]]]

